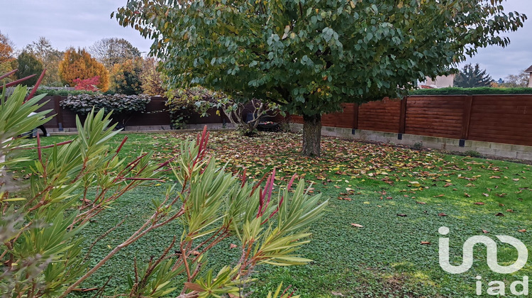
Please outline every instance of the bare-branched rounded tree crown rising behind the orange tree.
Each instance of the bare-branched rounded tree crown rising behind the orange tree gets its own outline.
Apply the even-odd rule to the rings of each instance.
[[[91,45],[89,52],[108,70],[117,63],[140,57],[140,50],[123,38],[103,38]]]

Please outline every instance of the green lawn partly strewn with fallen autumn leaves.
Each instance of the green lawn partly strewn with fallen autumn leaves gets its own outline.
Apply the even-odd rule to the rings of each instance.
[[[121,154],[133,157],[154,150],[155,158],[163,161],[177,151],[174,146],[180,139],[192,136],[131,133]],[[43,143],[67,138],[43,138]],[[123,135],[112,142],[118,145],[121,138]],[[323,199],[329,199],[326,214],[311,228],[312,242],[301,250],[314,263],[257,268],[258,282],[250,289],[251,297],[265,297],[279,282],[292,285],[302,297],[475,297],[477,275],[482,276],[484,294],[489,281],[505,281],[509,294],[511,282],[532,275],[530,262],[511,275],[491,272],[482,245],[475,246],[475,263],[468,272],[451,275],[438,265],[440,226],[450,228],[455,265],[461,261],[464,241],[484,235],[483,230],[492,238],[514,236],[532,248],[529,165],[336,138],[324,138],[323,156],[309,159],[299,156],[300,142],[301,136],[291,133],[263,133],[257,138],[226,132],[211,135],[211,153],[221,162],[229,162],[234,172],[245,167],[250,178],[257,179],[275,166],[279,184],[286,184],[295,173],[314,183],[314,193],[322,192]],[[21,166],[13,177],[23,179],[26,167]],[[108,253],[151,214],[150,198],[162,196],[172,177],[165,180],[122,197],[84,230],[88,246],[128,216],[117,229],[121,238],[100,241],[92,250],[94,256]],[[99,287],[112,277],[108,294],[113,294],[111,289],[123,289],[126,275],[132,273],[133,257],[148,260],[179,233],[179,223],[174,223],[141,239],[111,259],[84,287]],[[216,262],[212,265],[238,258],[230,243],[228,239],[210,254]],[[516,255],[510,245],[499,243],[499,264],[513,263]]]

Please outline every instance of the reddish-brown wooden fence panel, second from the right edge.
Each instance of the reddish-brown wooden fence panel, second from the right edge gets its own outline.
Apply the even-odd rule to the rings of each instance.
[[[404,133],[460,138],[463,118],[464,96],[410,96]]]

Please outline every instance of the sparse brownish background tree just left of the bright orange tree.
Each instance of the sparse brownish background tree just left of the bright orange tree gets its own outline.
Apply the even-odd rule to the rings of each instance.
[[[50,40],[43,36],[27,45],[26,50],[35,55],[46,68],[46,75],[41,84],[45,86],[62,86],[59,76],[59,63],[65,53],[53,48]]]

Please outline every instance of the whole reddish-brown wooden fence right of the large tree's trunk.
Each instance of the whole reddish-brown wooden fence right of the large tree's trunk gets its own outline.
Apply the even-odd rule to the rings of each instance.
[[[291,117],[303,123],[300,116]],[[323,126],[532,145],[532,94],[409,96],[343,104]]]

